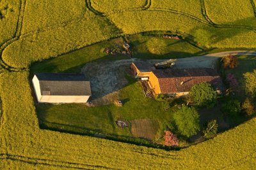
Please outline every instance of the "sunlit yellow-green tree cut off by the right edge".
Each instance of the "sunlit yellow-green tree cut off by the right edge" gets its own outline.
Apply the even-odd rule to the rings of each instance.
[[[252,97],[256,97],[256,69],[252,73],[243,74],[245,80],[245,90]]]

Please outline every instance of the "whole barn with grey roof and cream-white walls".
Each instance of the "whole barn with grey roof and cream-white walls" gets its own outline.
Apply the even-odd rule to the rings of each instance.
[[[39,103],[86,103],[92,96],[83,74],[35,73],[32,83]]]

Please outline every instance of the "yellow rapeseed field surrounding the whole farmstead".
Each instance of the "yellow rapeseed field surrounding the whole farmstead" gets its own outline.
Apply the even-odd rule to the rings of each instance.
[[[225,8],[223,6],[236,6],[235,3],[241,4],[241,1],[214,1],[211,5],[217,6],[214,8],[220,11],[218,9],[212,13],[209,13],[209,8],[213,7],[209,7],[207,1],[204,1],[203,7],[202,1],[173,1],[173,4],[167,0],[162,4],[157,0],[133,1],[124,6],[123,2],[0,2],[1,11],[8,4],[6,18],[0,20],[0,40],[4,42],[10,39],[9,43],[1,46],[3,53],[0,53],[0,63],[6,64],[4,71],[0,71],[0,169],[255,168],[256,118],[218,134],[214,139],[179,151],[39,128],[28,78],[31,62],[58,57],[116,36],[145,31],[187,34],[194,36],[198,44],[204,43],[209,47],[256,47],[253,24],[237,27],[243,26],[242,20],[248,17],[255,20],[251,16],[253,7],[252,13],[248,12],[250,0],[243,1],[246,11],[241,16],[237,16],[238,11],[232,10],[218,16]],[[111,8],[112,4],[115,6]],[[143,7],[144,4],[147,4],[147,8]],[[188,4],[195,5],[188,7]],[[219,6],[221,4],[223,6]],[[93,9],[106,13],[106,16]],[[114,12],[109,13],[110,9]],[[207,16],[204,11],[207,11]],[[214,16],[217,17],[214,19]],[[227,18],[232,18],[232,23],[227,23]],[[204,34],[209,37],[205,38]]]

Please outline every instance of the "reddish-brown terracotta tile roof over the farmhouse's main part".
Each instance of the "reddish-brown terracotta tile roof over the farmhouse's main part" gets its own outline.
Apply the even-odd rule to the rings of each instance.
[[[220,76],[210,68],[157,69],[153,73],[159,80],[162,94],[189,92],[191,87],[204,81],[217,90],[224,90]]]

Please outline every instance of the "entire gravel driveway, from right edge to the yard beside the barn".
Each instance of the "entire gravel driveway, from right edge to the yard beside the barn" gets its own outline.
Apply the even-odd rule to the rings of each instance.
[[[255,52],[232,51],[212,53],[198,57],[188,57],[177,59],[175,61],[176,68],[191,68],[191,67],[210,67],[214,68],[220,57],[228,55],[256,55]],[[133,58],[132,60],[136,60]],[[95,60],[88,62],[81,72],[88,78],[91,84],[92,97],[90,101],[95,106],[113,103],[119,98],[119,90],[127,85],[125,75],[129,73],[131,59],[125,60]],[[148,60],[152,64],[164,60]]]

